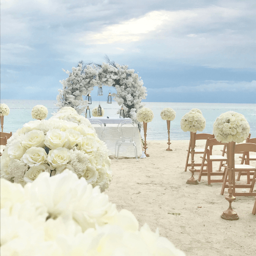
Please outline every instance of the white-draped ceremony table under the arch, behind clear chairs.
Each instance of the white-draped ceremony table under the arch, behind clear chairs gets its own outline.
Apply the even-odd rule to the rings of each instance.
[[[120,118],[121,119],[121,118]],[[122,118],[123,119],[130,119],[130,118]],[[99,135],[100,128],[96,125],[94,126],[96,133]],[[124,129],[133,129],[131,127],[125,127]],[[104,130],[102,132],[102,136],[99,136],[101,140],[103,140],[108,147],[109,150],[109,156],[113,157],[115,156],[115,145],[116,141],[120,139],[119,131],[117,130],[117,124],[111,124],[108,123],[104,127]],[[141,148],[141,137],[139,129],[137,128],[134,142],[137,146],[137,155],[138,158],[142,155],[142,148]],[[119,157],[127,157],[127,158],[135,158],[135,152],[134,152],[134,146],[132,143],[123,143],[120,146],[119,150]]]

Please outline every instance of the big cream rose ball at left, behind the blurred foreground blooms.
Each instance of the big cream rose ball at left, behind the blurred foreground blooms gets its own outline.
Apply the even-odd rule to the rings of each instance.
[[[1,177],[25,185],[42,172],[54,176],[69,168],[103,191],[112,179],[110,163],[95,130],[52,117],[26,123],[11,136],[1,157]]]

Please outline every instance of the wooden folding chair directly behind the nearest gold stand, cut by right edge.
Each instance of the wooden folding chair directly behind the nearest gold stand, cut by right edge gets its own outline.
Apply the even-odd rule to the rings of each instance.
[[[241,143],[237,144],[234,148],[235,154],[243,154],[244,152],[256,152],[256,144],[253,143]],[[223,184],[221,188],[221,195],[224,194],[225,188],[228,188],[227,177],[228,177],[228,171],[227,171],[227,165],[225,164],[225,170],[224,170],[224,179]],[[247,175],[247,184],[236,184],[235,180],[235,173],[241,172],[241,175]],[[250,179],[250,175],[253,175],[253,178]],[[256,193],[253,192],[253,187],[256,180],[256,167],[251,166],[249,164],[234,164],[234,169],[232,172],[232,185],[233,185],[233,196],[256,196]],[[249,193],[243,192],[243,193],[236,193],[236,188],[250,188]]]

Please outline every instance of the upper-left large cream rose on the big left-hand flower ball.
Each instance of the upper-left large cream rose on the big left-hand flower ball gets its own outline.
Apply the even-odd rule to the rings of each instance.
[[[22,145],[25,148],[30,148],[32,146],[42,147],[44,146],[45,134],[43,131],[33,130],[28,132],[22,141]]]

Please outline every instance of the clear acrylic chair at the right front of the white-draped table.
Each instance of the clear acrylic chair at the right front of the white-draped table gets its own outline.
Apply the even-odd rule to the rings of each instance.
[[[132,120],[125,120],[118,124],[117,129],[120,134],[120,139],[116,141],[115,157],[118,159],[120,146],[122,144],[132,144],[134,146],[135,157],[138,160],[137,146],[134,141],[134,137],[138,129],[137,124]]]

